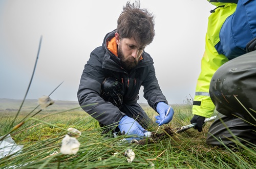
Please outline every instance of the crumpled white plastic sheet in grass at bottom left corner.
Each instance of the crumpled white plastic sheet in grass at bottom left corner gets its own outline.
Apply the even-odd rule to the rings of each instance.
[[[11,135],[8,134],[2,141],[0,141],[0,158],[16,153],[22,148],[23,146],[18,146],[12,139]]]

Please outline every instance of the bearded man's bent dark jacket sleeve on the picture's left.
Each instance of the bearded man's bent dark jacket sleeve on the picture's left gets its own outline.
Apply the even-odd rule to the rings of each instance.
[[[84,111],[105,126],[115,129],[124,114],[112,103],[100,97],[101,83],[105,77],[99,55],[103,57],[104,50],[96,51],[91,53],[89,61],[84,66],[77,98]]]

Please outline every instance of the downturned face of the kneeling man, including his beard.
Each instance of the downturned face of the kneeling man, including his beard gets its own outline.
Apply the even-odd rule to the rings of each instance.
[[[120,58],[122,67],[125,70],[131,70],[138,65],[145,46],[139,45],[134,38],[119,39],[118,33],[116,34],[118,36],[116,36],[118,45],[117,54]]]

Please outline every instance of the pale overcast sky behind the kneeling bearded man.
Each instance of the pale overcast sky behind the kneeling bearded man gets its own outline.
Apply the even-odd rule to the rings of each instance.
[[[126,0],[0,0],[0,98],[51,95],[75,100],[84,64],[106,33],[116,29]],[[133,1],[132,1],[133,2]],[[206,0],[141,0],[155,15],[154,41],[145,48],[155,62],[160,87],[170,104],[194,97],[204,52],[209,11]],[[139,102],[143,98],[143,87]]]

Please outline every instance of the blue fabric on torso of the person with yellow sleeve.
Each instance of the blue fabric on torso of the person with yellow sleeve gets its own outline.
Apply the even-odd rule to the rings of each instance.
[[[215,46],[219,54],[224,54],[231,60],[246,53],[246,45],[256,38],[255,7],[256,0],[238,1],[236,11],[221,27],[220,43]]]

